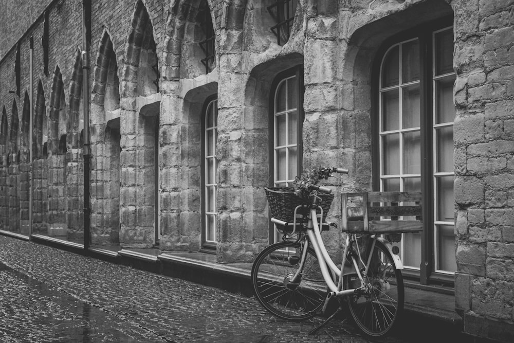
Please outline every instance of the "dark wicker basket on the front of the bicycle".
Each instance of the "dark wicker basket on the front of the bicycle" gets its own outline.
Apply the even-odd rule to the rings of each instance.
[[[271,216],[286,223],[293,223],[297,206],[310,204],[308,200],[297,196],[293,187],[264,187],[264,191],[268,198]],[[319,205],[323,209],[323,222],[325,222],[332,200],[334,200],[334,194],[319,193],[318,196],[321,198]],[[298,209],[297,214],[307,215],[308,208]]]

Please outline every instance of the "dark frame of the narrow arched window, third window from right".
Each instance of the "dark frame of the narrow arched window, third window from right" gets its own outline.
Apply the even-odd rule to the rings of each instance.
[[[218,100],[218,95],[217,94],[213,94],[213,95],[210,95],[209,97],[207,97],[204,101],[204,104],[202,105],[202,109],[201,109],[201,125],[200,125],[200,130],[201,130],[201,142],[200,142],[200,146],[201,146],[201,162],[200,162],[200,179],[201,179],[201,182],[200,182],[200,198],[201,198],[201,201],[200,201],[200,206],[201,206],[201,209],[200,209],[200,212],[201,212],[201,249],[200,251],[203,251],[203,252],[208,252],[209,254],[216,254],[216,242],[212,242],[212,241],[207,241],[207,227],[206,227],[206,216],[207,216],[207,213],[206,213],[206,196],[207,196],[207,193],[206,193],[206,187],[207,187],[207,183],[206,183],[206,164],[205,164],[205,159],[206,159],[206,137],[205,137],[205,133],[206,133],[206,117],[207,117],[207,109],[209,108],[209,104],[214,101],[214,100]],[[217,104],[217,102],[216,102]],[[217,120],[216,120],[216,123],[217,123]],[[217,124],[215,125],[216,127],[216,131],[217,131]],[[217,140],[216,140],[217,141]],[[214,157],[214,159],[217,161],[217,158]],[[215,168],[217,169],[217,163],[216,163],[216,166]],[[215,180],[216,181],[216,180]],[[217,183],[215,184],[215,189],[217,188]],[[216,200],[216,199],[215,199]],[[217,230],[217,223],[215,222],[215,230]],[[215,239],[217,239],[217,235],[215,237]]]

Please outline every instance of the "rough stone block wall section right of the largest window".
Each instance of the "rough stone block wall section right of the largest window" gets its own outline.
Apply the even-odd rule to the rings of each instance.
[[[511,340],[512,2],[476,0],[454,2],[453,7],[458,76],[454,89],[456,308],[467,332]],[[510,328],[504,329],[503,322],[510,323]]]

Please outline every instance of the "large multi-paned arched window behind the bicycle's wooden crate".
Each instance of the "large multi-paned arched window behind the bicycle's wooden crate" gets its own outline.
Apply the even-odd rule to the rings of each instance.
[[[417,33],[388,44],[380,61],[375,187],[423,192],[425,230],[403,235],[402,260],[422,281],[451,282],[456,270],[453,29],[443,23]]]

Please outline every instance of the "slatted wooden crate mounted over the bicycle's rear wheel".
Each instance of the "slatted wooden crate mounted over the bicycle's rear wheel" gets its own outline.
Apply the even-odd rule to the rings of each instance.
[[[341,222],[352,233],[422,231],[421,192],[341,193]]]

